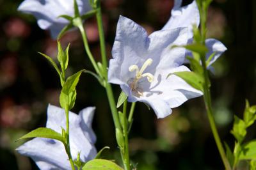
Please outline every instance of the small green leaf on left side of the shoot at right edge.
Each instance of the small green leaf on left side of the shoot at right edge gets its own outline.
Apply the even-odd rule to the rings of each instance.
[[[231,130],[231,134],[236,137],[239,143],[242,143],[245,135],[246,135],[246,125],[243,120],[239,119],[236,115],[234,116],[234,125]]]

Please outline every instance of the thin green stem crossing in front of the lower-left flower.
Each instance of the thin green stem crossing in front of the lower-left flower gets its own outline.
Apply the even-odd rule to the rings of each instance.
[[[74,166],[73,159],[72,159],[72,155],[71,155],[71,152],[70,152],[68,107],[65,108],[65,113],[66,113],[66,128],[67,129],[66,129],[66,143],[64,145],[65,145],[65,150],[66,150],[66,152],[68,154],[68,160],[70,162],[71,168],[72,168],[72,170],[76,170],[75,166]]]

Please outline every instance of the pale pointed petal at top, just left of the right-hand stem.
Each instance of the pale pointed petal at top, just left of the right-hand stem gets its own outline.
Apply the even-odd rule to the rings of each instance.
[[[193,24],[199,26],[200,15],[196,1],[188,4],[187,6],[181,8],[173,8],[172,16],[168,22],[164,25],[163,29],[173,29],[176,27],[188,27],[189,43],[192,42],[193,38]]]

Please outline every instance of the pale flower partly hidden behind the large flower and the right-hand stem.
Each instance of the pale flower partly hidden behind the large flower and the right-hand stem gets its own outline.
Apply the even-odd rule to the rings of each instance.
[[[171,17],[168,22],[164,25],[163,30],[165,29],[173,29],[176,27],[188,27],[189,28],[189,38],[188,43],[193,42],[193,24],[197,27],[200,23],[200,14],[198,10],[198,6],[196,1],[193,1],[191,4],[187,6],[181,7],[182,0],[175,0],[174,7],[171,12]],[[205,40],[205,45],[208,48],[208,52],[206,54],[206,59],[208,59],[213,52],[214,56],[212,57],[211,61],[209,62],[210,66],[216,59],[218,59],[227,48],[223,43],[220,41],[209,38]],[[188,56],[191,56],[191,52],[186,52]]]

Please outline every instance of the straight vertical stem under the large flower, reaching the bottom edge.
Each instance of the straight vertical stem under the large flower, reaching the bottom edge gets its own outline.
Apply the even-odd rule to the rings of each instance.
[[[129,142],[128,142],[128,132],[127,132],[127,100],[125,100],[124,105],[123,105],[123,122],[124,122],[124,129],[123,129],[123,134],[124,134],[124,141],[125,141],[125,151],[124,151],[124,166],[125,170],[130,170],[130,158],[129,158]]]

